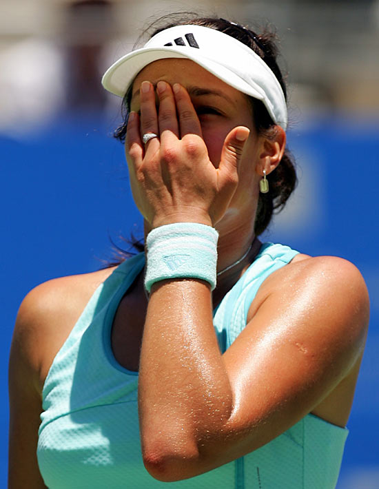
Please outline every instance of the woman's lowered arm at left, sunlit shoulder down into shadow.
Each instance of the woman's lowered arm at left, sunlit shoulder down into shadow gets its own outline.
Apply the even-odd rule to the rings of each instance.
[[[32,289],[21,303],[9,364],[12,489],[45,488],[37,464],[43,383],[85,304],[113,270],[49,280]]]

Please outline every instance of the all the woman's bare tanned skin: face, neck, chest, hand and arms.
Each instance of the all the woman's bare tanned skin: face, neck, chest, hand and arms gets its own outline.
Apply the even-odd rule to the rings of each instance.
[[[214,225],[224,269],[254,238],[259,180],[280,162],[283,130],[258,136],[245,95],[183,59],[148,65],[134,83],[132,110],[125,149],[146,233],[183,220]],[[145,132],[160,138],[144,147]],[[141,275],[119,304],[112,349],[121,365],[140,369],[143,457],[157,479],[225,464],[307,413],[347,423],[368,324],[360,273],[340,258],[296,256],[263,282],[246,328],[221,355],[212,307],[253,259],[223,274],[213,294],[199,280],[159,282],[148,305]],[[21,304],[10,357],[11,489],[45,487],[36,458],[43,383],[113,270],[46,282]]]

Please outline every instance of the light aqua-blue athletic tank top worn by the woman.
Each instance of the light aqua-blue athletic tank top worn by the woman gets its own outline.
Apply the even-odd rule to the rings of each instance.
[[[297,251],[266,243],[214,313],[221,351],[245,327],[267,276]],[[138,374],[116,362],[114,314],[145,257],[123,262],[88,302],[54,358],[43,387],[37,456],[50,489],[167,489],[145,470],[137,413]],[[285,366],[283,366],[285,369]],[[170,483],[183,489],[335,488],[348,430],[307,415],[265,446],[206,474]]]

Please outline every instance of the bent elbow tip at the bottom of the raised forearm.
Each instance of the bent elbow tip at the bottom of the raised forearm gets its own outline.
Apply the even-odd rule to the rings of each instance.
[[[143,464],[149,474],[161,482],[181,481],[191,477],[198,461],[198,449],[191,442],[184,444],[154,443],[143,447]]]

